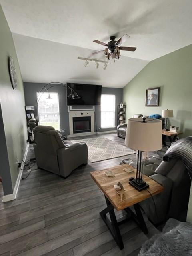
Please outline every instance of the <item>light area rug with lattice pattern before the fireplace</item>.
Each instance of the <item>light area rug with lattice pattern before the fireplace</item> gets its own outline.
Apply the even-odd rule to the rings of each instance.
[[[72,140],[71,142],[86,143],[88,146],[88,159],[92,163],[135,153],[134,150],[126,148],[105,137],[84,138],[81,140]]]

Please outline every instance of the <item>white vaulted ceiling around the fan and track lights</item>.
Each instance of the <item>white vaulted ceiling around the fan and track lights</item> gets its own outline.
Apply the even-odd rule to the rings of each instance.
[[[25,82],[89,82],[124,87],[150,60],[192,43],[191,0],[0,0]],[[106,70],[86,68],[111,35],[131,36]],[[105,60],[103,54],[95,55]]]

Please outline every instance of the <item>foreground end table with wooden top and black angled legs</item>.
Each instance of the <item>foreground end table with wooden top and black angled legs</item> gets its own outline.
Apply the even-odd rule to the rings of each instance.
[[[133,172],[125,172],[123,169],[126,167],[133,170]],[[106,171],[114,172],[115,176],[107,177],[105,174]],[[122,164],[120,166],[90,173],[94,182],[96,182],[100,190],[102,190],[104,193],[106,199],[107,207],[100,212],[100,215],[121,250],[124,248],[124,244],[120,234],[119,225],[125,222],[125,217],[117,220],[114,209],[117,211],[125,210],[126,213],[128,213],[130,217],[136,221],[140,229],[147,234],[148,230],[138,203],[150,198],[151,195],[154,196],[159,194],[164,189],[160,184],[143,175],[143,179],[149,184],[149,188],[148,190],[142,190],[140,192],[137,191],[129,184],[129,178],[135,176],[135,172],[136,170],[129,164]],[[118,182],[121,182],[125,188],[124,198],[122,201],[113,187],[113,185],[117,184]],[[136,214],[130,210],[130,206],[134,206]],[[107,213],[109,213],[110,219],[106,216]]]

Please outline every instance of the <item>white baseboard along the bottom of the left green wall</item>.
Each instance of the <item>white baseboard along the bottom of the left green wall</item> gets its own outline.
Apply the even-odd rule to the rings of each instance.
[[[25,165],[24,162],[26,160],[27,153],[28,153],[28,148],[29,148],[29,143],[27,143],[27,146],[26,146],[25,154],[24,154],[24,157],[23,157],[23,161],[21,163],[21,168],[20,168],[20,171],[19,171],[19,174],[18,174],[18,177],[17,177],[17,181],[16,181],[16,184],[15,184],[15,187],[14,187],[14,190],[13,190],[13,194],[8,194],[6,196],[3,196],[2,203],[12,201],[12,200],[16,199],[19,184],[20,184],[20,181],[21,181],[22,173],[23,173],[23,168],[24,168],[24,165]]]

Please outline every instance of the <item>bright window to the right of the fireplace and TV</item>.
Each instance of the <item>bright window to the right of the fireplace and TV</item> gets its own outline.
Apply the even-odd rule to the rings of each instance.
[[[101,128],[115,126],[115,95],[101,96]]]

